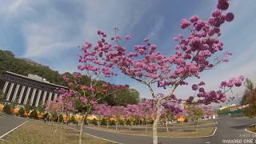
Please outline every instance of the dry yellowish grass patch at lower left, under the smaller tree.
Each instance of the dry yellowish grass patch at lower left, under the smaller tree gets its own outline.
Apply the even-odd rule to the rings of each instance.
[[[112,144],[99,138],[82,134],[82,143]],[[23,126],[6,135],[0,144],[77,144],[79,132],[61,124],[30,120]]]

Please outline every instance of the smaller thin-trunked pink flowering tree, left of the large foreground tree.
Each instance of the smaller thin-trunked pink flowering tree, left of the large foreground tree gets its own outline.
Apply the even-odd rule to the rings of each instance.
[[[82,129],[84,121],[88,114],[91,114],[93,107],[97,105],[102,98],[114,94],[118,90],[126,89],[127,86],[111,85],[110,83],[102,82],[102,78],[109,78],[114,73],[109,73],[109,65],[104,62],[99,62],[94,58],[94,53],[89,54],[90,44],[86,43],[82,46],[82,55],[80,55],[78,66],[84,75],[75,72],[72,77],[64,76],[64,80],[68,83],[70,88],[67,93],[68,96],[64,97],[73,102],[74,112],[82,115],[82,122],[80,126],[79,143],[82,143]],[[89,46],[89,47],[88,47]],[[88,78],[89,82],[82,82],[82,78]],[[72,94],[70,94],[70,92]],[[71,101],[70,101],[71,99]],[[65,101],[65,100],[64,100]]]

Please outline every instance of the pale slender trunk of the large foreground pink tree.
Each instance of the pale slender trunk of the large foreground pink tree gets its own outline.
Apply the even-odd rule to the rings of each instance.
[[[160,107],[159,100],[156,103],[156,108],[157,108],[157,114],[153,123],[153,144],[158,144],[158,122],[161,114],[161,107]]]

